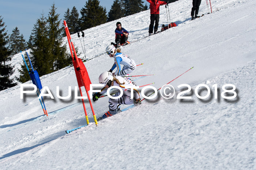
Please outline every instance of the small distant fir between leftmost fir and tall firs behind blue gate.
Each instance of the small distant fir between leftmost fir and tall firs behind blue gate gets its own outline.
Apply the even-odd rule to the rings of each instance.
[[[12,30],[10,36],[10,48],[12,50],[12,55],[18,54],[20,50],[25,50],[25,39],[23,35],[20,36],[18,27]]]

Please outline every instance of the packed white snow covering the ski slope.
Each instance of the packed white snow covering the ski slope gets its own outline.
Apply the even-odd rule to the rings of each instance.
[[[215,0],[211,5],[213,13],[207,14],[202,1],[199,13],[206,15],[191,21],[192,1],[169,4],[171,21],[178,26],[144,39],[149,10],[118,20],[132,42],[122,52],[136,64],[144,63],[132,75],[155,74],[133,78],[138,86],[155,83],[151,86],[158,89],[194,67],[170,83],[176,90],[172,99],[158,93],[155,99],[99,121],[97,127],[86,100],[91,123],[66,134],[86,124],[82,102],[74,98],[74,67],[41,77],[54,96],[44,98],[48,117],[36,94],[20,99],[20,84],[1,91],[0,169],[255,169],[256,1]],[[114,62],[106,54],[95,56],[114,42],[116,22],[87,29],[84,38],[72,35],[80,58],[85,59],[84,46],[91,59],[84,65],[93,84]],[[160,8],[159,29],[161,24],[167,24],[165,6]],[[14,76],[22,62],[16,54]],[[191,99],[177,99],[188,89],[181,84],[192,88],[181,95]],[[223,98],[225,84],[236,87],[236,98]],[[71,86],[72,98],[58,99],[56,86],[61,96],[67,96]],[[199,99],[197,93],[207,95],[203,86],[210,95]],[[97,118],[108,111],[108,100],[93,102]]]

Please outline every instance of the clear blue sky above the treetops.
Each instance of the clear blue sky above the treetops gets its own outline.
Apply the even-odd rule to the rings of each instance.
[[[31,30],[36,20],[44,12],[48,16],[52,4],[57,7],[60,19],[63,19],[65,11],[75,6],[79,12],[84,7],[87,0],[3,0],[0,5],[0,16],[3,18],[8,34],[18,27],[20,34],[23,34],[26,41],[29,40]],[[114,0],[100,0],[100,5],[106,7],[109,12]],[[146,2],[146,0],[144,0]]]

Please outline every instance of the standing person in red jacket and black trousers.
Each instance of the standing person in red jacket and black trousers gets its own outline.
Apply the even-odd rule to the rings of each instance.
[[[158,29],[158,22],[159,22],[159,7],[160,5],[167,4],[166,1],[159,1],[159,0],[147,0],[150,3],[150,25],[149,25],[149,35],[153,34],[153,27],[154,27],[154,33],[157,33]]]

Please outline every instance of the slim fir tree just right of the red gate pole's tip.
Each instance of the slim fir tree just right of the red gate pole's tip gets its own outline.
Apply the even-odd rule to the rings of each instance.
[[[76,7],[73,7],[70,13],[70,23],[68,24],[68,28],[70,34],[74,34],[79,31],[79,13]]]

